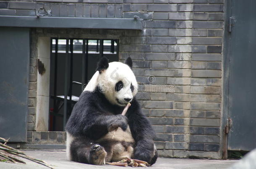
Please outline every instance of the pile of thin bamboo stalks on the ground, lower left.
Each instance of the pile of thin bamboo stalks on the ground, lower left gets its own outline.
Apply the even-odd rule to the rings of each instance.
[[[44,162],[42,160],[39,160],[39,159],[35,159],[33,157],[30,157],[30,156],[27,156],[24,152],[19,151],[17,149],[14,149],[10,146],[7,146],[6,143],[8,142],[9,139],[4,139],[4,138],[0,137],[0,140],[3,140],[5,142],[4,144],[0,143],[0,161],[10,162],[10,163],[17,163],[18,162],[18,163],[26,164],[25,161],[22,161],[21,159],[17,158],[17,157],[21,157],[21,158],[33,161],[35,163],[47,166],[50,169],[53,169],[52,166],[50,166],[46,162]]]

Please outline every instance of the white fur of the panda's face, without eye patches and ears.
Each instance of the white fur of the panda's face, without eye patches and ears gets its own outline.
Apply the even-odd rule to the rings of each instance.
[[[120,91],[115,91],[115,84],[118,83],[118,81],[123,82],[123,88]],[[120,106],[127,104],[124,98],[132,99],[138,91],[138,84],[133,71],[128,65],[121,62],[109,63],[107,70],[99,74],[98,84],[110,103]],[[131,92],[130,89],[131,84],[134,86],[133,92]],[[116,99],[122,104],[118,103]]]

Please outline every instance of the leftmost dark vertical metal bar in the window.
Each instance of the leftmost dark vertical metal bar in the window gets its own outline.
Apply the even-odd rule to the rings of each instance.
[[[51,41],[52,44],[52,41]],[[52,51],[52,48],[51,48]],[[58,66],[58,38],[55,38],[55,57],[54,57],[54,89],[53,89],[53,95],[56,96],[57,95],[57,66]],[[56,100],[53,100],[53,111],[56,113],[57,112],[57,108],[56,108]],[[55,123],[56,123],[56,117],[53,116],[53,120],[52,120],[52,128],[53,131],[55,131]]]

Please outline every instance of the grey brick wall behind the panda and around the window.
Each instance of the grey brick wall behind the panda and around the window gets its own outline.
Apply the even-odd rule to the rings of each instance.
[[[119,38],[120,60],[128,56],[133,59],[133,71],[140,83],[137,98],[157,132],[155,143],[159,154],[220,158],[223,3],[224,0],[0,1],[0,15],[87,18],[136,15],[144,19],[142,31],[33,29],[28,141],[37,143],[33,136],[38,135],[32,132],[37,37]]]

